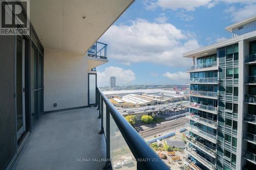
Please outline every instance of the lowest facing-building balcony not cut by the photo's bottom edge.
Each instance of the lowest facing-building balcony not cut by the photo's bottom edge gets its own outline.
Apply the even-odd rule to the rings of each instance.
[[[209,147],[206,147],[206,145],[197,141],[195,137],[186,136],[186,141],[194,145],[198,149],[204,151],[206,154],[210,155],[211,157],[216,158],[216,151]]]

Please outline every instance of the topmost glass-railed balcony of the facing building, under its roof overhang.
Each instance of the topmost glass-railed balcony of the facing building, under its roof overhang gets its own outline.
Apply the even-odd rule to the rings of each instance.
[[[188,66],[186,72],[210,71],[210,70],[218,70],[218,69],[219,69],[219,66],[217,65],[217,61],[212,61],[212,62]]]

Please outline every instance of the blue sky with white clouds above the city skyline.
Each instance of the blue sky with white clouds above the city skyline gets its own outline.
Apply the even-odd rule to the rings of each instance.
[[[98,86],[185,84],[182,54],[231,38],[224,28],[256,14],[256,0],[136,0],[98,40],[109,62]]]

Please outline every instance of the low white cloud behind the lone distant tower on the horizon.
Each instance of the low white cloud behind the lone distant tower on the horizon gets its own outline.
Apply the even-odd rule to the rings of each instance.
[[[111,76],[116,77],[116,84],[128,84],[135,80],[135,74],[131,69],[110,66],[102,72],[97,72],[97,82],[99,84],[109,84]]]

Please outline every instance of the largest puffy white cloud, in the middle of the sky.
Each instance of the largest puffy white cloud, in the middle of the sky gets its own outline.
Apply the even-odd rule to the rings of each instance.
[[[120,63],[151,62],[181,67],[191,60],[182,54],[199,48],[195,35],[170,23],[137,19],[130,26],[112,26],[101,41],[109,43],[109,58]]]

